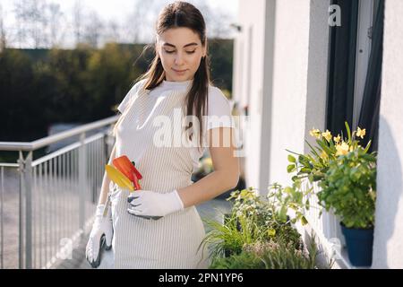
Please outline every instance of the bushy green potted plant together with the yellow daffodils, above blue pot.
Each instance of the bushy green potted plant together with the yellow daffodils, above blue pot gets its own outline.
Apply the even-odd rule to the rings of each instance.
[[[288,155],[287,171],[296,172],[296,175],[285,201],[296,202],[297,217],[304,214],[304,210],[309,209],[309,202],[304,206],[300,196],[311,196],[312,189],[301,188],[301,181],[304,178],[310,183],[319,181],[322,191],[313,196],[318,197],[322,207],[333,209],[347,227],[369,228],[374,220],[376,155],[367,154],[371,141],[365,148],[360,145],[359,139],[364,138],[365,129],[357,127],[351,133],[347,122],[345,126],[347,138],[333,136],[328,130],[311,130],[310,135],[316,138],[317,145],[306,142],[310,153],[291,152],[298,156],[297,159]]]

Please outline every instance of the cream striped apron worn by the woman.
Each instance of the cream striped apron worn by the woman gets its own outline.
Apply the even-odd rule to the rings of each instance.
[[[165,125],[168,129],[180,126],[174,115],[184,107],[186,92],[168,91],[158,97],[149,92],[139,89],[126,107],[129,110],[117,128],[116,157],[126,155],[135,161],[143,177],[141,189],[167,193],[193,184],[193,160],[188,147],[154,144],[154,135],[162,130],[154,119],[164,116],[170,122]],[[176,136],[169,131],[167,135]],[[112,267],[207,268],[207,247],[200,248],[205,230],[194,206],[153,221],[127,212],[128,190],[115,185],[109,196],[114,227]]]

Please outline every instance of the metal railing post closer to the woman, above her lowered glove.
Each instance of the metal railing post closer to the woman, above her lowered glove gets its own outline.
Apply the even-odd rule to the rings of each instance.
[[[81,231],[84,230],[85,222],[85,192],[87,191],[87,147],[84,143],[85,133],[80,135],[79,150],[79,224]]]

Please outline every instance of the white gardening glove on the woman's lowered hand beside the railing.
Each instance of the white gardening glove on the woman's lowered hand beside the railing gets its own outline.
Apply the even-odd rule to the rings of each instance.
[[[103,216],[105,204],[99,204],[95,212],[95,221],[92,224],[90,239],[87,243],[85,256],[93,268],[97,268],[100,264],[100,249],[104,244],[107,250],[112,247],[112,213],[110,205],[107,208],[106,216]]]

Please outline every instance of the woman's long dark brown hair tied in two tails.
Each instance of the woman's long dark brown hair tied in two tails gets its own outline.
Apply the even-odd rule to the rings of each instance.
[[[204,47],[207,45],[206,37],[206,24],[204,22],[201,12],[187,2],[177,1],[172,4],[168,4],[159,13],[159,19],[157,22],[156,30],[160,35],[171,28],[189,28],[197,33],[201,39],[201,45]],[[145,83],[145,89],[151,90],[157,87],[165,79],[165,71],[159,58],[159,54],[156,53],[149,70],[141,76],[141,79],[147,79]],[[208,110],[208,91],[210,85],[210,60],[209,57],[201,57],[201,63],[193,78],[193,85],[188,91],[185,98],[186,116],[195,116],[198,118],[199,127],[199,139],[202,141],[203,121],[202,116],[207,115]],[[188,126],[187,128],[190,128]],[[192,135],[191,135],[192,138]],[[202,143],[201,143],[202,144]]]

